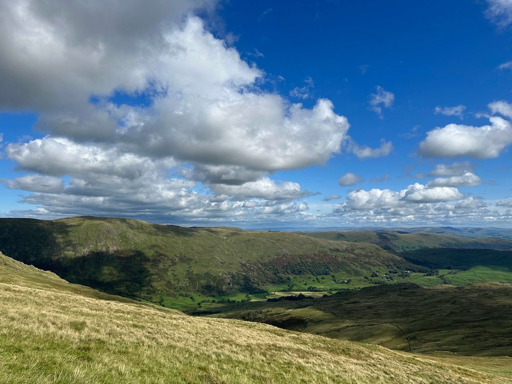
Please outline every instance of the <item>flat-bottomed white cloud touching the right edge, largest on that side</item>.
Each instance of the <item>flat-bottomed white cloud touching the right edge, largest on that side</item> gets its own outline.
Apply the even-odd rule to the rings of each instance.
[[[448,124],[426,133],[419,153],[424,157],[471,157],[490,159],[500,155],[512,143],[512,125],[498,116],[490,125]]]

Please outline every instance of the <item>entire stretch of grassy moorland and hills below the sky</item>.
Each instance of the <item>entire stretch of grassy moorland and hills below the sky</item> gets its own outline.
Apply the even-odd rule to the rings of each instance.
[[[512,240],[452,232],[0,219],[0,382],[509,382]]]

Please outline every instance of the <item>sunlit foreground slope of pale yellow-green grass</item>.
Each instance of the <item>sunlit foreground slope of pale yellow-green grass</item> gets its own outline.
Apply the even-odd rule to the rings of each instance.
[[[505,359],[449,356],[445,363],[443,356],[98,300],[78,293],[82,288],[54,285],[54,275],[0,260],[0,276],[17,280],[0,280],[2,384],[500,384],[512,378]]]

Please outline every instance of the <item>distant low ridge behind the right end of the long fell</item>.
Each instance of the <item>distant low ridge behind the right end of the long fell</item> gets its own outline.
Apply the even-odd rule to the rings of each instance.
[[[423,248],[512,249],[512,240],[500,238],[471,239],[439,233],[407,233],[403,231],[297,232],[316,239],[375,244],[394,252]]]

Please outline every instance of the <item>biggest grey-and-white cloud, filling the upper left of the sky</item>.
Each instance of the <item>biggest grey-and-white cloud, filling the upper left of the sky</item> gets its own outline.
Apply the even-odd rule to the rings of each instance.
[[[104,9],[65,2],[58,12],[46,4],[4,3],[0,23],[0,70],[8,79],[0,106],[37,111],[40,130],[145,156],[269,172],[322,164],[339,151],[349,125],[330,101],[304,109],[255,89],[262,71],[198,17],[180,21],[202,3]],[[57,22],[53,14],[66,17]],[[145,92],[152,104],[114,105],[115,91]],[[94,95],[99,102],[91,104]]]

